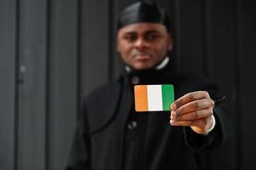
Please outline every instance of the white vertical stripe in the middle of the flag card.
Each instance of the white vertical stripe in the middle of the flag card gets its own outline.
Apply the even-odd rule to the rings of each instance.
[[[162,111],[162,86],[148,85],[147,95],[149,111]]]

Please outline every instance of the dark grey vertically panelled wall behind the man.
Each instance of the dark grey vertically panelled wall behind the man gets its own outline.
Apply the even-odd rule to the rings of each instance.
[[[132,0],[0,0],[0,169],[63,169],[82,96],[122,71],[118,11]],[[227,97],[230,136],[208,169],[255,169],[253,1],[159,0],[179,71]]]

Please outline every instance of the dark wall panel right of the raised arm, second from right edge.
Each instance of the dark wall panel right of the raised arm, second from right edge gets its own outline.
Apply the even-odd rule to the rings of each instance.
[[[211,154],[211,169],[239,169],[236,148],[238,147],[236,138],[236,114],[234,80],[235,59],[234,48],[236,39],[235,14],[236,3],[228,1],[207,1],[208,8],[205,10],[205,29],[206,29],[206,55],[208,58],[208,77],[219,85],[219,90],[226,97],[226,109],[229,111],[230,132],[227,140],[218,150]],[[229,159],[226,159],[226,157]],[[218,161],[218,163],[215,163]]]

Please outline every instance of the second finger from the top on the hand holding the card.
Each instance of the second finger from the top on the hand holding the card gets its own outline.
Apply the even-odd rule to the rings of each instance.
[[[191,101],[190,103],[180,106],[176,110],[176,115],[181,116],[181,115],[190,113],[192,111],[198,111],[198,110],[203,110],[208,108],[213,109],[213,106],[214,106],[214,102],[212,99],[199,99],[199,100]]]

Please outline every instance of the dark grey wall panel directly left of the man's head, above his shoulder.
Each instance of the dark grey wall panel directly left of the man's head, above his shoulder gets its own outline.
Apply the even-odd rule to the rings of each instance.
[[[108,10],[107,1],[82,1],[81,61],[82,94],[108,81]]]

